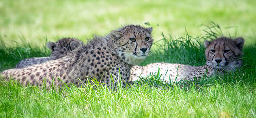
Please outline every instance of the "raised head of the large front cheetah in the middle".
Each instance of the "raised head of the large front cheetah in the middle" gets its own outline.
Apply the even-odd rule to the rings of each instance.
[[[152,27],[128,25],[111,31],[110,37],[116,44],[118,56],[131,65],[137,65],[144,61],[153,43],[152,30]]]

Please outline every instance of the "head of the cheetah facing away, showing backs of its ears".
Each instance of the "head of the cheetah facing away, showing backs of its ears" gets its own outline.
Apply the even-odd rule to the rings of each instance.
[[[52,51],[52,54],[50,55],[50,58],[52,59],[63,57],[67,52],[74,50],[80,45],[82,45],[82,41],[75,38],[62,38],[57,42],[47,43],[47,47]]]

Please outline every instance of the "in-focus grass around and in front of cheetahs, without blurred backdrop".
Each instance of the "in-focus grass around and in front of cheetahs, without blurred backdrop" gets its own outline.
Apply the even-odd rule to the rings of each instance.
[[[205,65],[203,40],[229,35],[217,24],[203,27],[205,33],[196,37],[189,31],[176,39],[162,34],[161,41],[155,42],[141,65],[161,61]],[[157,75],[118,90],[91,84],[46,90],[2,81],[0,117],[256,117],[255,39],[245,38],[245,42],[252,42],[244,46],[241,69],[198,79],[185,87],[164,83]],[[3,42],[1,45],[1,70],[12,68],[27,57],[49,55],[45,48],[11,47]]]

